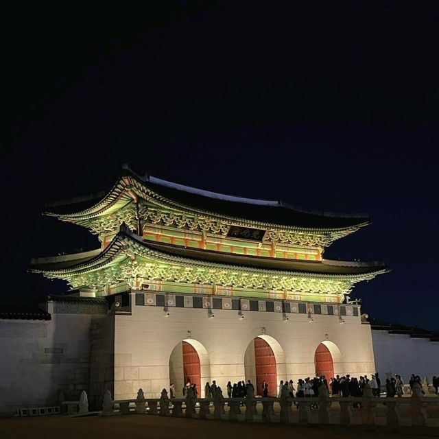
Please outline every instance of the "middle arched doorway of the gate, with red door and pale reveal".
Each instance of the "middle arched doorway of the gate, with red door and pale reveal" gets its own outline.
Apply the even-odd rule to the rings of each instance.
[[[244,356],[246,380],[254,384],[255,394],[263,394],[263,381],[268,383],[268,396],[277,396],[278,381],[285,379],[285,355],[281,345],[269,335],[255,337]]]

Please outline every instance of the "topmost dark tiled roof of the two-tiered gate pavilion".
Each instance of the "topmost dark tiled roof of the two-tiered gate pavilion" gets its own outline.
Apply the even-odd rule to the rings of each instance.
[[[355,228],[368,224],[367,215],[302,211],[284,202],[250,200],[180,186],[150,176],[141,177],[129,169],[123,170],[121,178],[103,198],[91,196],[75,199],[64,205],[52,205],[48,214],[66,220],[106,215],[132,200],[127,193],[132,188],[150,191],[161,200],[169,201],[170,205],[184,206],[195,212],[213,213],[218,216],[248,219],[261,223],[323,229]]]

